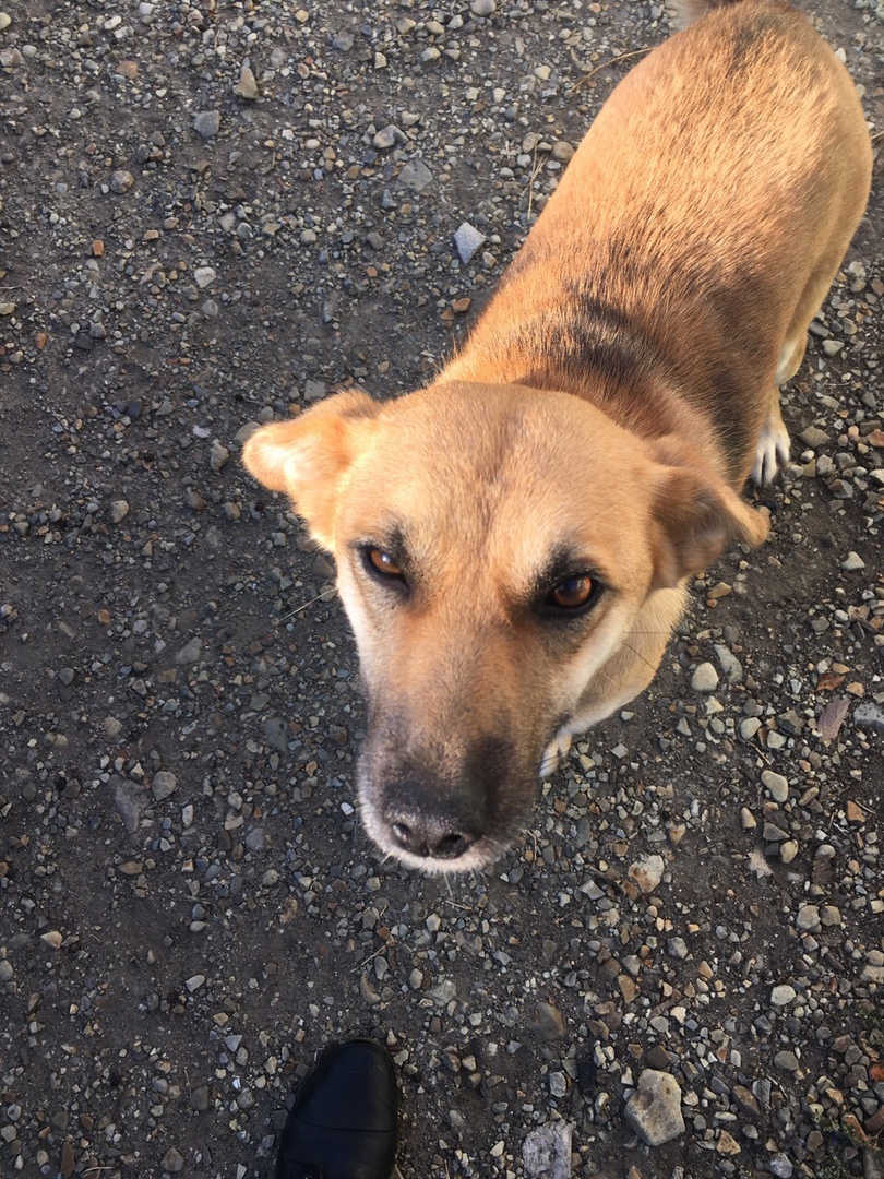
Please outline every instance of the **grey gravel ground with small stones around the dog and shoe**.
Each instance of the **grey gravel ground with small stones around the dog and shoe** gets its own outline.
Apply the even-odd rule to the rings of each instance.
[[[810,7],[884,129],[884,9]],[[424,381],[666,20],[0,8],[2,1173],[268,1177],[367,1033],[404,1179],[880,1179],[879,192],[772,541],[697,582],[521,847],[422,878],[359,829],[334,571],[239,443]]]

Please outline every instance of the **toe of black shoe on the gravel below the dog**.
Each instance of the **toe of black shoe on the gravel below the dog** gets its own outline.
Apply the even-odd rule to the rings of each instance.
[[[275,1179],[390,1179],[398,1089],[389,1053],[374,1040],[331,1048],[291,1108]]]

